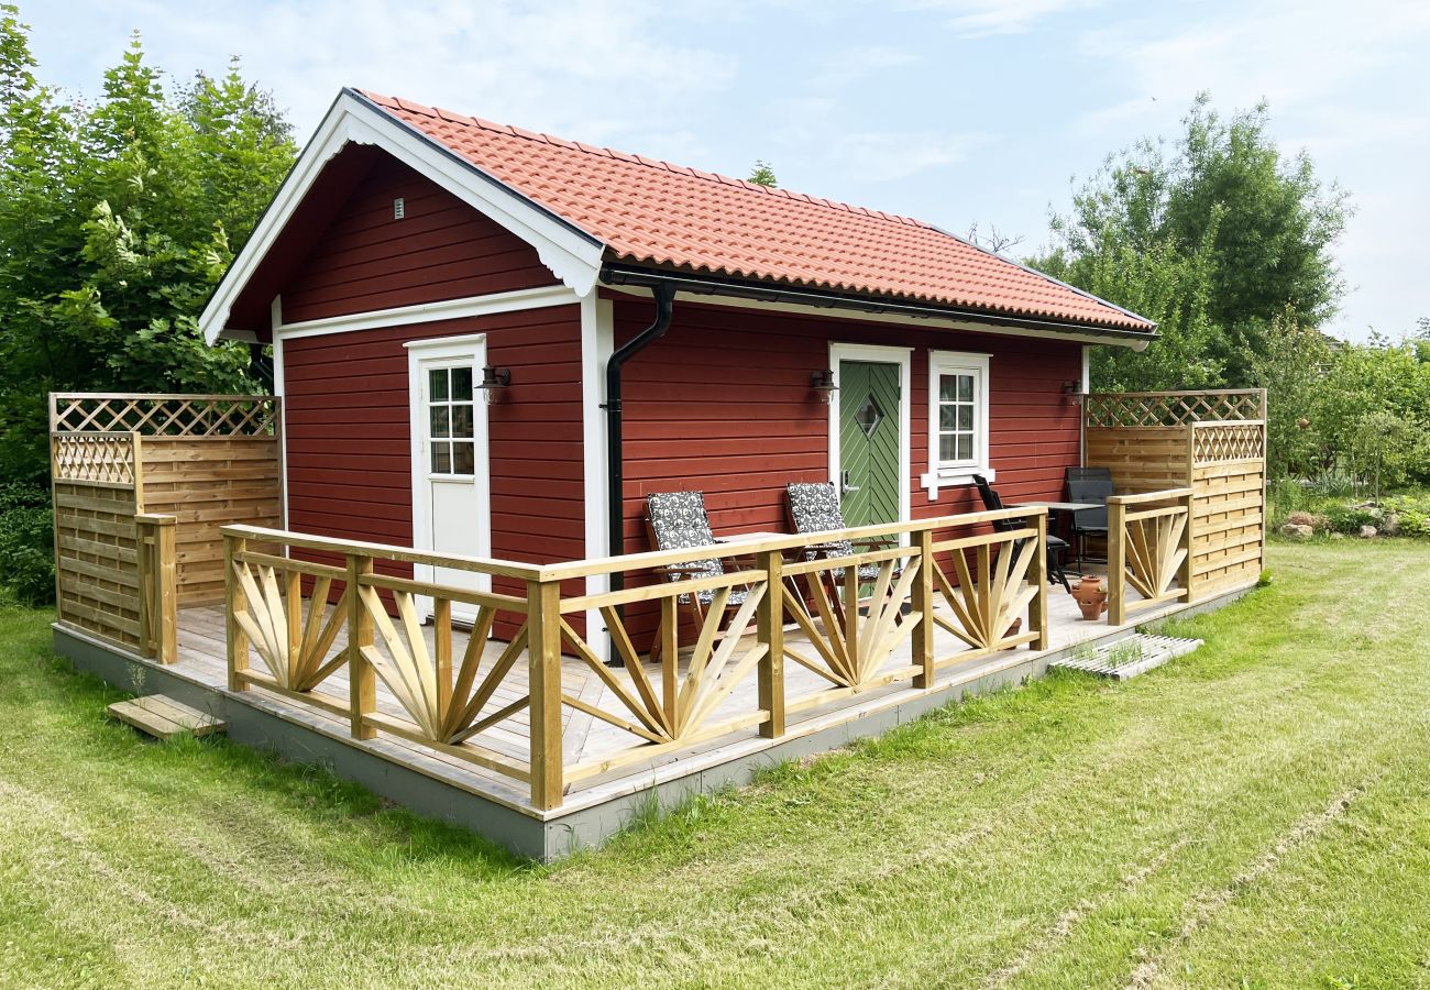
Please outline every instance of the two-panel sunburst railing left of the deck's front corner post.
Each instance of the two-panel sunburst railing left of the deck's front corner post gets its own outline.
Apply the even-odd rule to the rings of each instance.
[[[496,700],[496,688],[529,652],[533,632],[543,635],[542,617],[533,622],[529,615],[542,595],[390,577],[378,574],[375,564],[396,561],[519,578],[531,582],[528,588],[539,574],[535,568],[255,526],[225,526],[223,538],[230,690],[257,685],[346,718],[356,738],[370,740],[380,730],[521,781],[533,780],[528,761],[486,745],[480,737],[531,710],[531,753],[543,751],[546,712],[532,707],[529,695],[506,704]],[[280,557],[255,549],[255,544],[342,564]],[[419,597],[430,605],[430,644],[418,617]],[[472,609],[472,631],[460,655],[453,605]],[[502,614],[515,618],[516,632],[483,672],[486,641]],[[253,667],[255,655],[263,670]],[[559,664],[559,651],[556,658]],[[347,680],[343,694],[329,688],[339,672]],[[396,700],[396,711],[378,708],[379,680]],[[558,705],[558,757],[559,715]]]

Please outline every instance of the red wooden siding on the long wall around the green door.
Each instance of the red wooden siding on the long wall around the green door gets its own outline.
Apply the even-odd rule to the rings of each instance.
[[[615,336],[644,329],[651,302],[616,299]],[[716,534],[786,531],[784,486],[829,476],[829,406],[809,373],[829,366],[829,342],[914,348],[909,399],[914,518],[981,508],[971,485],[931,502],[928,351],[971,351],[990,361],[990,451],[1005,499],[1058,499],[1080,458],[1080,411],[1062,392],[1081,379],[1081,346],[1058,340],[932,332],[679,300],[666,336],[625,368],[626,551],[648,549],[645,496],[701,489]],[[645,635],[654,615],[628,619]]]

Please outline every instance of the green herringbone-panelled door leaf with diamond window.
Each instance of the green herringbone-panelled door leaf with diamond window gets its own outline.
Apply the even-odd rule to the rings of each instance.
[[[899,521],[899,366],[839,362],[839,475],[844,521]]]

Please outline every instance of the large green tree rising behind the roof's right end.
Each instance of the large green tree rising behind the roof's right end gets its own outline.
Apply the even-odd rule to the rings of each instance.
[[[1147,296],[1165,298],[1167,285],[1185,288],[1191,278],[1195,319],[1164,322],[1167,339],[1153,345],[1194,353],[1188,381],[1161,381],[1171,361],[1147,362],[1145,381],[1115,359],[1097,362],[1094,372],[1117,368],[1118,383],[1130,386],[1153,388],[1157,379],[1243,388],[1254,381],[1276,320],[1318,326],[1336,310],[1344,286],[1331,249],[1350,206],[1341,189],[1321,185],[1304,152],[1280,152],[1264,103],[1227,120],[1203,93],[1183,124],[1170,153],[1144,139],[1110,156],[1074,193],[1071,210],[1052,217],[1054,250],[1031,263],[1158,322],[1157,312],[1141,308]],[[1137,262],[1144,256],[1155,262]],[[1174,276],[1178,259],[1188,268]],[[1148,292],[1137,272],[1107,276],[1108,266],[1128,263],[1161,288]],[[1214,381],[1203,381],[1211,369]]]

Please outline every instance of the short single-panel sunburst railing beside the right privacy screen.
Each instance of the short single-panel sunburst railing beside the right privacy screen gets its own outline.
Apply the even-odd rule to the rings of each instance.
[[[1193,489],[1170,488],[1107,499],[1107,621],[1131,611],[1191,601]],[[1140,598],[1128,601],[1128,585]]]

